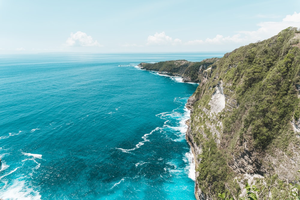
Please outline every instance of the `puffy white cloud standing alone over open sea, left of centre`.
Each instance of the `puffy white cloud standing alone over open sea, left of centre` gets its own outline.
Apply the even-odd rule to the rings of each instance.
[[[86,33],[77,31],[76,33],[71,33],[70,37],[67,39],[65,46],[102,46],[97,40],[93,40],[91,36]]]

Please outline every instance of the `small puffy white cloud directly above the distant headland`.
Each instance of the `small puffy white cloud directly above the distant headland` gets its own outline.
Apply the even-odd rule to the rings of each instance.
[[[165,32],[155,33],[154,35],[149,35],[147,39],[147,45],[177,45],[181,44],[181,40],[176,38],[175,40],[172,37],[167,36]]]

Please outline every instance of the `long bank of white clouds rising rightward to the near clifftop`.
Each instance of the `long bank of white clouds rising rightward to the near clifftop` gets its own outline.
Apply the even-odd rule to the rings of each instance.
[[[262,19],[267,16],[257,16]],[[274,21],[260,22],[257,24],[258,28],[252,31],[236,31],[232,35],[224,36],[217,34],[215,37],[208,37],[206,39],[196,39],[187,42],[166,35],[165,32],[155,33],[149,35],[147,38],[147,46],[173,46],[172,50],[194,49],[197,51],[215,51],[215,50],[230,50],[238,48],[239,46],[247,45],[249,43],[257,42],[258,40],[268,39],[285,28],[300,27],[300,13],[294,12],[292,15],[286,15],[280,18],[276,15],[273,16]],[[268,16],[270,18],[270,16]],[[275,21],[275,18],[279,19]],[[128,45],[129,46],[129,45]],[[131,45],[133,46],[133,45]]]

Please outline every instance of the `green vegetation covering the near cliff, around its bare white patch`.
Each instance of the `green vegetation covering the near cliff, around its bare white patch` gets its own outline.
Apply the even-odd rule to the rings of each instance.
[[[195,91],[191,126],[194,141],[203,151],[197,180],[205,195],[240,193],[233,181],[237,174],[232,170],[234,157],[246,152],[254,165],[249,173],[271,173],[271,163],[262,160],[265,153],[300,144],[290,123],[299,118],[300,49],[293,46],[298,43],[293,38],[297,32],[288,28],[268,40],[227,53]],[[208,103],[221,81],[226,107],[211,117]],[[265,167],[268,165],[270,168]]]

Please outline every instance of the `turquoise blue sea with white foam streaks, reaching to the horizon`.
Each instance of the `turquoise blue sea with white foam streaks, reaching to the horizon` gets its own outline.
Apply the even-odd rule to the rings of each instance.
[[[0,198],[195,199],[197,84],[137,65],[223,54],[0,55]]]

